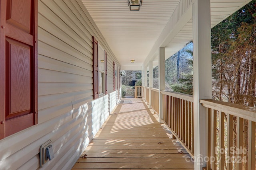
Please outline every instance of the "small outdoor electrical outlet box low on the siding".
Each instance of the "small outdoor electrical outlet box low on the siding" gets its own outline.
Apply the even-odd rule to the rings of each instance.
[[[49,140],[40,147],[40,166],[43,167],[46,162],[52,160],[53,158],[54,152],[52,147],[52,141]]]

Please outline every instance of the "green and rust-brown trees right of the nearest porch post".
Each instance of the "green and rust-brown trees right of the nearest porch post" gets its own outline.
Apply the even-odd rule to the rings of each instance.
[[[212,28],[213,98],[256,106],[256,0]],[[236,132],[236,117],[233,131]],[[248,149],[244,119],[243,148]],[[234,134],[234,146],[236,137]],[[248,155],[245,154],[246,160]],[[247,169],[243,163],[243,169]]]

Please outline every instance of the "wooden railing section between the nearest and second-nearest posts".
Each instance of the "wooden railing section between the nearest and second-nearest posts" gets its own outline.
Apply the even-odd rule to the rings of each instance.
[[[162,120],[170,128],[188,153],[194,154],[193,96],[161,91],[163,99]]]

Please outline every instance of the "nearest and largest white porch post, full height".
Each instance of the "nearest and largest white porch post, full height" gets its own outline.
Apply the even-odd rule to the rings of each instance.
[[[212,98],[211,18],[210,0],[194,0],[193,13],[193,69],[194,69],[194,169],[206,166],[206,109],[200,99]],[[200,158],[201,161],[200,162]]]

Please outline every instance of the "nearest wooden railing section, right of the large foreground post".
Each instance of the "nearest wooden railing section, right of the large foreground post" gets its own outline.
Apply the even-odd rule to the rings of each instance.
[[[254,170],[256,108],[200,100],[207,113],[207,169]]]

